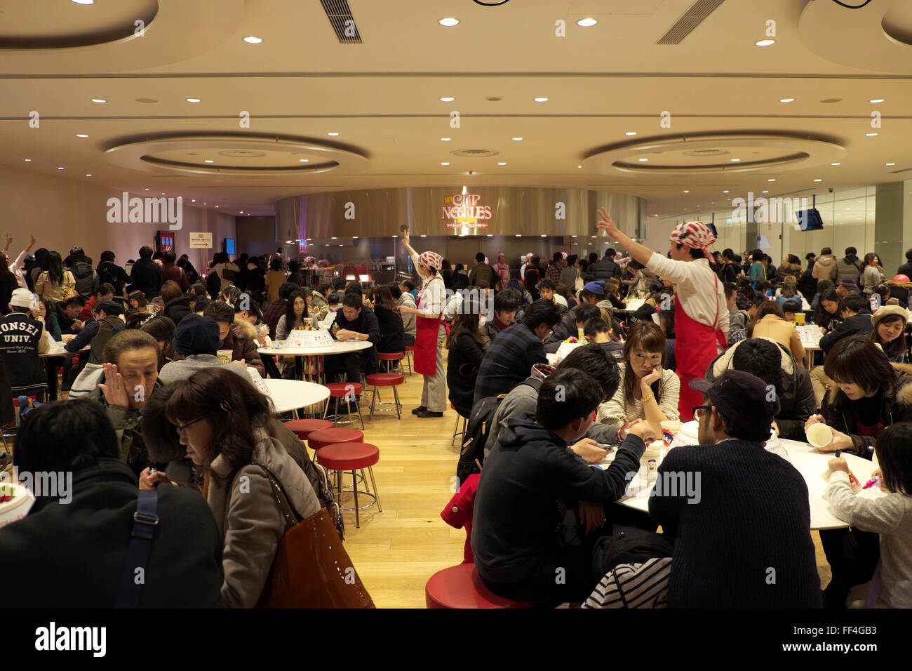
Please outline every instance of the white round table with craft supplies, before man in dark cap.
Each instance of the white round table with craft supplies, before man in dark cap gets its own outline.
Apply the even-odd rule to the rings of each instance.
[[[640,459],[640,469],[637,472],[637,476],[630,480],[630,483],[627,486],[626,495],[617,501],[621,505],[627,506],[627,508],[648,512],[649,494],[658,481],[656,471],[658,470],[658,466],[662,463],[662,460],[668,454],[668,450],[676,449],[680,446],[694,446],[698,444],[697,422],[686,422],[683,425],[680,425],[680,429],[673,435],[671,431],[665,431],[664,425],[677,425],[679,423],[663,422],[662,424],[663,433],[666,434],[663,436],[664,439],[653,441],[647,446],[646,452]],[[672,427],[672,431],[673,429],[674,427]],[[829,472],[828,463],[829,460],[835,456],[834,453],[822,452],[807,443],[796,440],[786,440],[777,436],[771,436],[771,440],[766,444],[766,449],[791,462],[793,467],[802,474],[804,482],[807,483],[808,499],[811,505],[812,530],[843,529],[849,526],[848,522],[845,522],[845,520],[839,519],[834,515],[825,497],[827,481],[824,479],[824,475],[827,475]],[[617,449],[612,450],[603,462],[596,465],[596,467],[607,468],[610,466],[616,452]],[[845,452],[840,456],[845,458],[849,470],[852,471],[852,474],[862,485],[866,484],[868,480],[871,479],[871,472],[876,468],[875,463],[860,456],[850,455]],[[685,475],[683,480],[680,477],[674,478],[673,483],[669,480],[667,486],[678,488],[679,493],[682,496],[696,499],[700,495],[700,482],[695,476],[690,477],[690,480],[688,480],[687,477],[688,476]],[[663,484],[664,483],[659,483],[659,489]],[[681,488],[683,488],[684,491],[681,491]],[[856,491],[856,496],[879,498],[885,496],[885,494],[881,492],[879,486],[875,485],[866,489],[859,488]]]

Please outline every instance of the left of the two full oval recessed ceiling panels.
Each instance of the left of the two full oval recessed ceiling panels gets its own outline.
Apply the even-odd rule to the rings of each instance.
[[[367,157],[341,145],[303,138],[186,135],[122,142],[105,152],[110,163],[156,173],[264,175],[359,173]]]

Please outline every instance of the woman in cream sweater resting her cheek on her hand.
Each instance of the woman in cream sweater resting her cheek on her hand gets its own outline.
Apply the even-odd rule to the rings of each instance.
[[[665,335],[651,321],[637,321],[630,327],[624,343],[621,383],[607,403],[598,407],[598,421],[608,425],[625,425],[627,421],[645,419],[656,435],[661,423],[679,417],[678,376],[664,367]],[[620,431],[618,439],[623,439]]]

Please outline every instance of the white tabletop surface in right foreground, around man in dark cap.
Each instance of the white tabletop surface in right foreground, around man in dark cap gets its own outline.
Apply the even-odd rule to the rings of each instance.
[[[696,425],[696,422],[689,422],[684,426],[688,429],[692,429],[690,425]],[[696,433],[696,431],[695,429],[692,429],[689,433]],[[677,438],[680,438],[680,434]],[[676,439],[675,446],[671,447],[671,449],[677,449],[677,444],[679,442],[680,441]],[[830,508],[829,503],[825,498],[827,483],[821,476],[826,472],[828,467],[827,462],[833,458],[834,454],[819,452],[807,443],[796,440],[781,438],[779,442],[782,444],[782,447],[785,448],[785,452],[788,454],[789,461],[792,462],[793,467],[802,474],[804,482],[807,483],[808,500],[811,504],[811,529],[844,529],[845,527],[848,527],[848,522],[839,519],[834,515],[833,510]],[[696,445],[697,441],[693,440],[692,443]],[[614,453],[612,453],[612,455],[613,454]],[[661,450],[658,458],[659,464],[661,464],[662,459],[664,459],[667,454],[667,449]],[[871,472],[875,469],[873,462],[845,452],[841,456],[845,457],[845,461],[848,463],[849,468],[862,485],[871,479]],[[605,465],[602,465],[602,467],[605,467]],[[618,499],[617,502],[623,506],[627,506],[627,508],[635,508],[648,512],[649,492],[652,490],[652,487],[653,483],[647,483],[644,469],[641,467],[637,472],[637,477],[634,477],[627,486],[627,493],[625,496]],[[880,491],[880,488],[875,486],[859,491],[856,496],[863,498],[879,498],[886,495]]]

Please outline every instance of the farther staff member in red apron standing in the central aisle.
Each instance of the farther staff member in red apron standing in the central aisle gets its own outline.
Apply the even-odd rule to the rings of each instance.
[[[403,232],[402,244],[409,250],[411,261],[421,277],[418,308],[401,305],[396,308],[400,313],[417,316],[415,372],[424,376],[424,388],[421,390],[421,404],[411,412],[419,417],[442,417],[447,404],[447,370],[441,353],[447,334],[442,318],[446,304],[446,288],[440,277],[443,257],[436,252],[424,252],[419,256],[409,245],[408,230]]]

